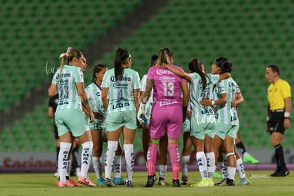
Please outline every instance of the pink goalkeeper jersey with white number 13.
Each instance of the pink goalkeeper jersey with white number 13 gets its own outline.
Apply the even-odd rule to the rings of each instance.
[[[181,67],[171,65],[179,70]],[[180,83],[184,79],[167,68],[153,66],[148,70],[147,78],[153,79],[153,111],[156,109],[182,107]]]

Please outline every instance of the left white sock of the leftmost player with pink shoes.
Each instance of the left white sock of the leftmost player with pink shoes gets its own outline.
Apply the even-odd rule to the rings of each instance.
[[[58,176],[62,183],[66,182],[67,175],[67,158],[68,153],[70,153],[70,147],[72,143],[69,142],[60,142],[60,151],[58,154]]]

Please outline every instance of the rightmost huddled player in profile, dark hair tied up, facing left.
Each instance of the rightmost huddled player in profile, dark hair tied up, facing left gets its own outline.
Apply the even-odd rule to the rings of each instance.
[[[227,58],[217,58],[212,65],[212,74],[221,74],[224,72],[232,71],[232,63]],[[211,105],[214,107],[214,111],[217,119],[216,134],[213,139],[214,150],[214,164],[217,166],[217,154],[218,149],[222,145],[224,153],[227,156],[227,185],[234,186],[234,176],[236,173],[236,156],[234,153],[234,141],[236,139],[236,133],[239,129],[238,116],[236,114],[236,108],[232,107],[232,101],[236,96],[236,82],[232,77],[222,80],[217,83],[217,87],[214,91],[216,100],[205,99],[200,102],[202,106]]]

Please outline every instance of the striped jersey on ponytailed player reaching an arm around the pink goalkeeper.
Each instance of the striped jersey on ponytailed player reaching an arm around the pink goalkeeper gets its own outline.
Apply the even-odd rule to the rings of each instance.
[[[202,99],[210,99],[213,93],[213,86],[219,82],[219,75],[207,74],[207,86],[205,89],[202,89],[202,79],[199,74],[193,72],[190,76],[192,78],[189,89],[192,115],[196,117],[214,115],[212,107],[203,107],[200,101]]]

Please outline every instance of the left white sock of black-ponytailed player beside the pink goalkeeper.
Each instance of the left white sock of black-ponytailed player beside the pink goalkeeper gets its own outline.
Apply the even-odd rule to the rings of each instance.
[[[115,151],[119,141],[107,141],[107,152],[104,158],[105,178],[111,177],[112,164],[114,163]]]

